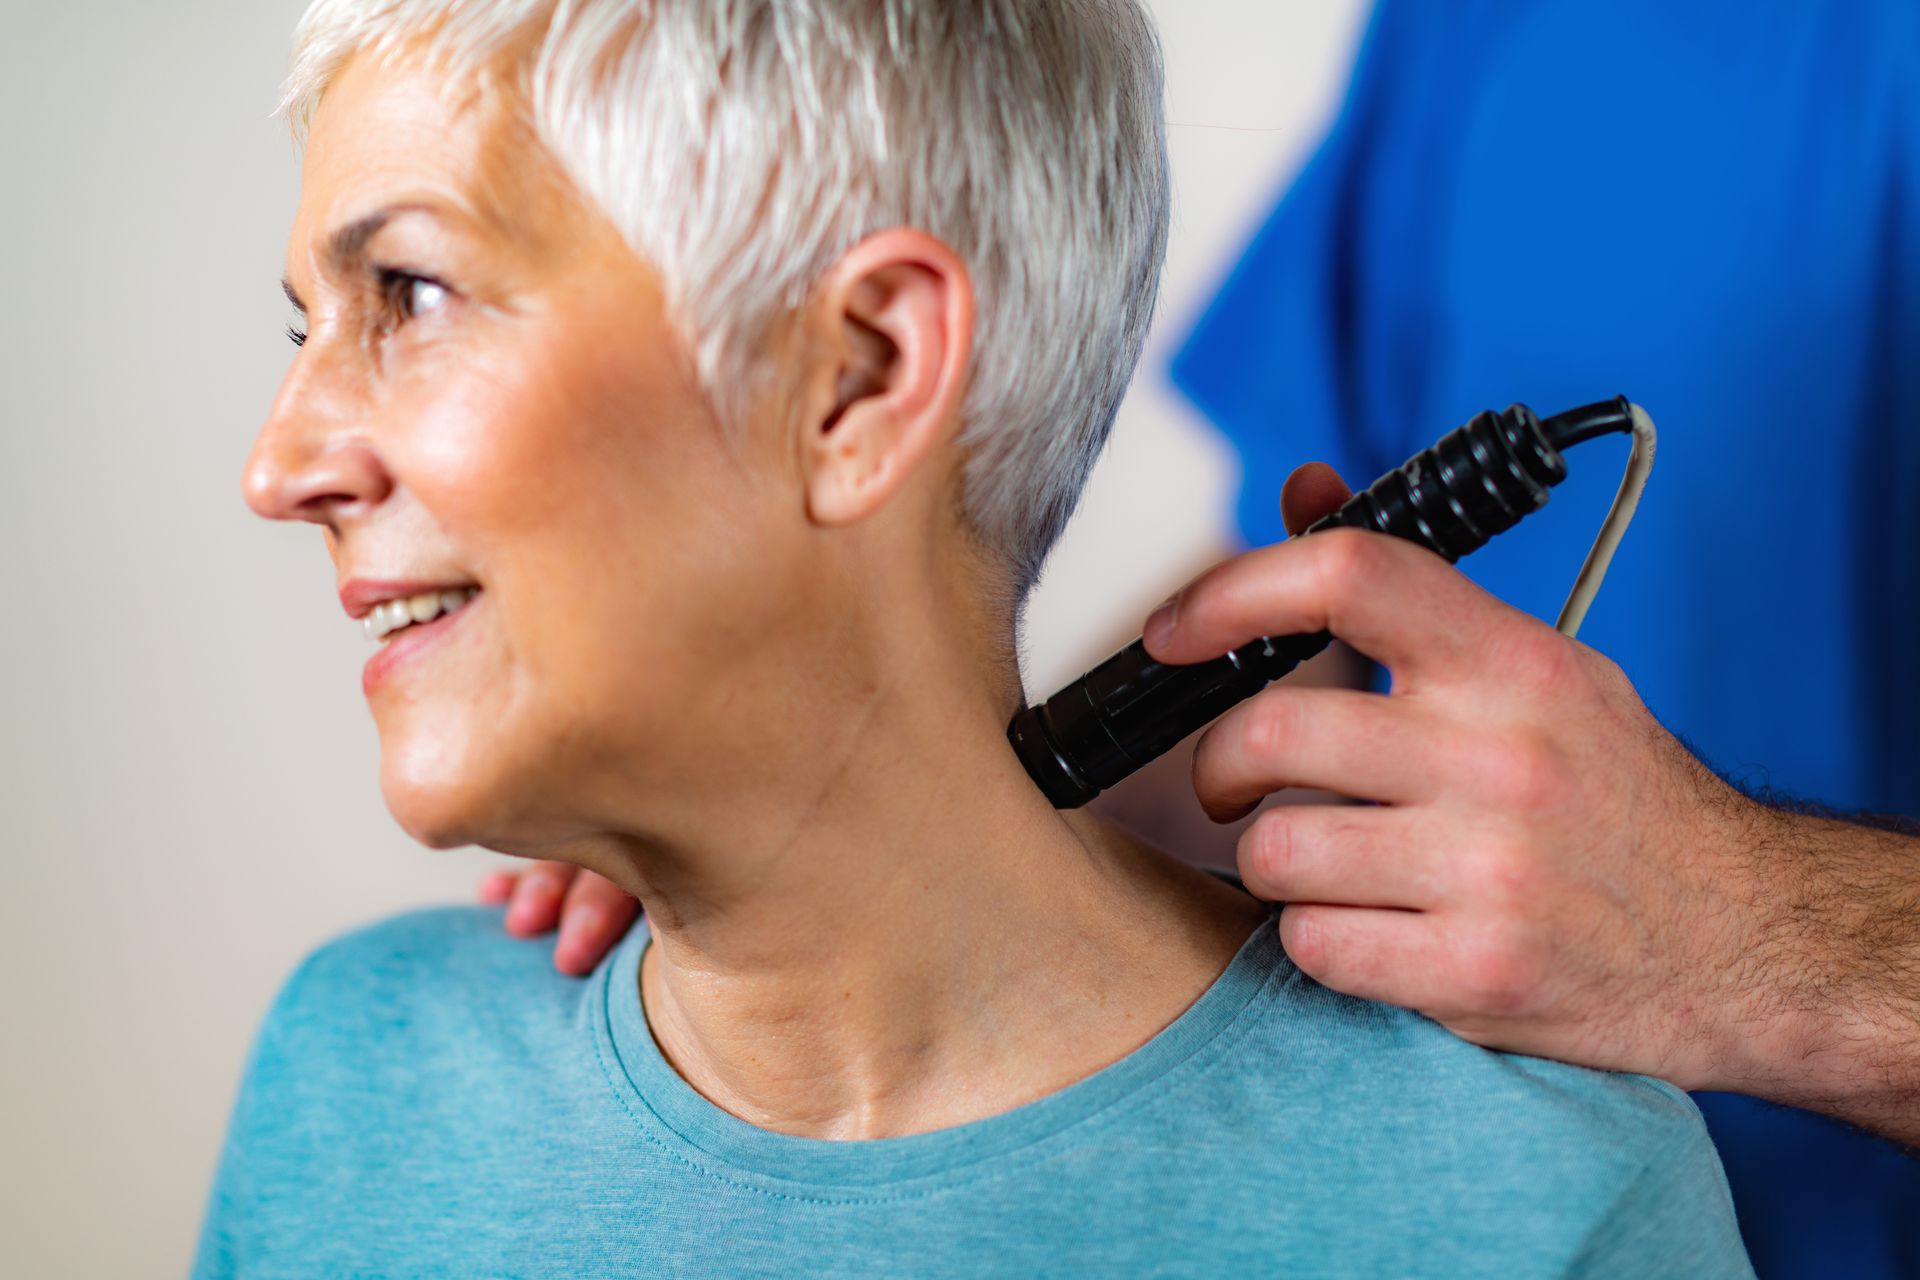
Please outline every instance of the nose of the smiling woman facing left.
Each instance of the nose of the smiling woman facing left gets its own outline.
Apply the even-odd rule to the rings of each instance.
[[[394,480],[355,416],[334,415],[296,374],[280,388],[246,461],[246,505],[267,520],[334,526],[344,512],[376,507]]]

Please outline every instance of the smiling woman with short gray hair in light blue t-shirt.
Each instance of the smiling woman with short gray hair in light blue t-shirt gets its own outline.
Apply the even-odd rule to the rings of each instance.
[[[1006,748],[1158,104],[1133,0],[315,4],[248,499],[382,645],[401,825],[647,927],[311,956],[200,1274],[1747,1274],[1684,1096],[1313,986]]]

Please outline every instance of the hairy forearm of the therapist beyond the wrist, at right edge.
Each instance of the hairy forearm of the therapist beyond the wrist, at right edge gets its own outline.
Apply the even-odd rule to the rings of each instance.
[[[1730,812],[1749,848],[1743,1000],[1695,1088],[1755,1094],[1920,1146],[1920,833],[1763,804]]]

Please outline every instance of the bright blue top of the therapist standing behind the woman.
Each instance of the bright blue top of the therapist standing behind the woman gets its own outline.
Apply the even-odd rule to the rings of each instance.
[[[1356,486],[1480,409],[1661,428],[1582,639],[1736,781],[1920,814],[1920,6],[1384,0],[1332,134],[1173,367]],[[1463,564],[1551,620],[1624,443]],[[1920,1163],[1705,1098],[1763,1276],[1920,1274]]]

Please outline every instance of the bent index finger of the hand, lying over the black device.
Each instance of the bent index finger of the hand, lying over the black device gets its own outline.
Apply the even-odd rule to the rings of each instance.
[[[1327,530],[1210,568],[1154,612],[1146,649],[1206,662],[1260,635],[1332,631],[1407,679],[1471,664],[1505,612],[1423,547]]]

